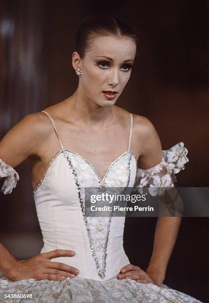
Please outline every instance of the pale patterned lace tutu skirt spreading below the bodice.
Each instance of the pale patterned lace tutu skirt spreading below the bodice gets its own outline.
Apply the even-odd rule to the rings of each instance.
[[[4,294],[11,294],[4,299]],[[32,299],[14,299],[24,294]],[[25,296],[25,297],[26,297]],[[25,279],[12,282],[0,278],[0,303],[197,303],[201,302],[177,290],[132,279],[95,281],[78,276],[62,281]]]

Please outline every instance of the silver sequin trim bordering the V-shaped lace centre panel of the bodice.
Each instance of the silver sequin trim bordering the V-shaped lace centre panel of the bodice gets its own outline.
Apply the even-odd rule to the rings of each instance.
[[[76,169],[73,167],[72,165],[72,159],[70,158],[70,155],[69,155],[69,152],[71,153],[74,153],[76,155],[78,155],[79,157],[81,157],[85,162],[87,162],[90,167],[94,170],[96,176],[98,177],[98,186],[100,186],[101,182],[103,182],[104,180],[106,181],[106,178],[107,178],[107,175],[110,171],[110,169],[112,168],[113,164],[115,162],[117,162],[122,156],[124,156],[127,152],[129,152],[129,159],[128,159],[128,178],[127,178],[127,184],[126,184],[126,187],[125,189],[128,187],[128,184],[130,182],[130,173],[131,173],[131,170],[130,170],[130,162],[131,162],[131,157],[132,157],[132,152],[130,151],[127,151],[127,152],[124,152],[123,154],[121,154],[117,159],[115,159],[109,166],[109,168],[107,169],[105,175],[104,175],[104,178],[103,180],[101,180],[100,176],[97,174],[94,166],[89,162],[87,161],[85,158],[83,158],[81,155],[75,153],[75,152],[72,152],[72,151],[68,151],[68,150],[65,150],[63,151],[64,153],[64,157],[66,158],[66,160],[68,161],[68,164],[70,166],[70,169],[74,175],[74,179],[75,179],[75,183],[76,183],[76,186],[77,186],[77,190],[78,190],[78,197],[79,197],[79,202],[80,202],[80,206],[81,206],[81,211],[82,211],[82,215],[83,215],[83,219],[84,219],[84,222],[85,222],[85,225],[86,225],[86,230],[87,230],[87,234],[88,234],[88,237],[89,237],[89,243],[90,243],[90,249],[91,249],[91,252],[92,252],[92,256],[95,260],[95,264],[96,264],[96,268],[97,268],[97,272],[98,272],[98,275],[101,277],[101,279],[104,279],[105,277],[105,267],[106,267],[106,249],[107,249],[107,243],[108,243],[108,239],[109,239],[109,231],[110,231],[110,223],[111,223],[111,218],[112,218],[112,215],[113,215],[113,211],[111,212],[110,214],[110,217],[108,219],[108,223],[107,223],[107,228],[106,228],[106,236],[105,236],[105,240],[104,240],[104,247],[103,247],[103,257],[102,257],[102,266],[100,266],[100,263],[99,263],[99,259],[98,259],[98,256],[96,254],[96,251],[95,251],[95,247],[94,247],[94,241],[93,241],[93,237],[92,237],[92,233],[91,233],[91,230],[90,230],[90,223],[88,222],[88,219],[87,219],[87,216],[85,215],[85,210],[84,210],[84,202],[83,202],[83,198],[82,198],[82,194],[81,194],[81,186],[79,184],[79,181],[78,181],[78,176],[77,176],[77,173],[76,173]],[[104,184],[104,183],[103,183]],[[106,184],[105,184],[106,186]]]

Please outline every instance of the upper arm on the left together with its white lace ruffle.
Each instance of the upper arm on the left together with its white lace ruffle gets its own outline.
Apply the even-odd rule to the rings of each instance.
[[[39,155],[41,140],[44,137],[43,117],[40,113],[27,115],[0,141],[0,177],[5,177],[1,192],[10,194],[19,180],[14,167],[26,158]]]

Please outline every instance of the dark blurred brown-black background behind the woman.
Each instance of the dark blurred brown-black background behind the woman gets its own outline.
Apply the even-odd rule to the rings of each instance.
[[[209,1],[0,1],[0,138],[26,114],[73,94],[75,32],[84,17],[113,13],[139,32],[131,79],[117,105],[148,117],[163,150],[184,142],[176,186],[209,186]],[[15,148],[15,147],[14,147]],[[42,235],[28,161],[0,195],[0,242],[17,258],[40,253]],[[2,184],[2,180],[1,183]],[[146,269],[157,218],[126,218],[124,247]],[[164,284],[209,302],[209,218],[183,218]]]

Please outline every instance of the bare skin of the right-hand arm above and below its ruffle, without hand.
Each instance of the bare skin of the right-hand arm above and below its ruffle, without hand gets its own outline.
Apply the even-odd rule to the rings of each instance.
[[[141,168],[147,169],[157,165],[162,158],[162,149],[157,132],[148,121],[145,137],[146,145],[139,159]],[[153,253],[146,273],[155,284],[161,285],[171,253],[173,251],[181,217],[158,217],[155,230]]]

